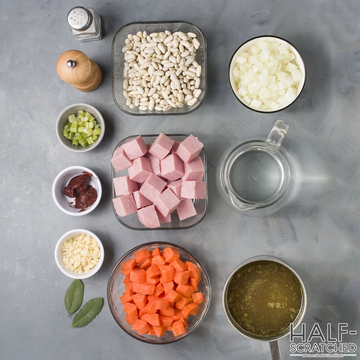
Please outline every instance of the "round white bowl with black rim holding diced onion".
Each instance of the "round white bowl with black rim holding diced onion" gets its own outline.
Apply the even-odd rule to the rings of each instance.
[[[298,89],[297,89],[296,98],[293,99],[291,102],[287,103],[286,105],[280,106],[279,108],[274,109],[274,110],[273,109],[260,110],[260,109],[254,108],[250,104],[247,104],[246,102],[244,102],[244,100],[242,99],[242,96],[240,96],[239,93],[238,93],[237,85],[235,84],[235,81],[234,81],[233,69],[234,69],[234,66],[235,66],[236,58],[238,57],[238,55],[240,53],[248,52],[249,49],[251,48],[251,46],[257,44],[260,40],[269,41],[269,42],[280,42],[280,43],[287,44],[289,46],[289,48],[291,49],[292,53],[295,56],[296,65],[298,66],[299,70],[303,73],[303,77],[302,77],[302,79],[300,81],[300,84],[298,86]],[[238,49],[235,51],[235,53],[231,57],[231,60],[230,60],[230,63],[229,63],[228,78],[229,78],[230,89],[233,92],[234,96],[239,100],[239,102],[241,104],[243,104],[248,109],[256,111],[256,112],[274,113],[274,112],[284,110],[285,108],[290,106],[293,102],[295,102],[296,99],[300,96],[300,94],[301,94],[301,92],[302,92],[302,90],[304,88],[304,85],[305,85],[306,68],[305,68],[304,60],[303,60],[302,56],[300,55],[299,51],[289,41],[287,41],[285,39],[282,39],[281,37],[278,37],[278,36],[261,35],[261,36],[253,37],[252,39],[249,39],[249,40],[245,41],[242,45],[240,45],[238,47]]]

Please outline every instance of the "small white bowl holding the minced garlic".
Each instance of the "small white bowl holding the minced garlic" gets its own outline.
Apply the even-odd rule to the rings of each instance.
[[[78,235],[89,235],[92,238],[94,238],[98,244],[99,244],[99,248],[100,248],[100,259],[98,264],[96,264],[95,267],[93,267],[93,269],[91,269],[90,271],[87,271],[86,273],[74,273],[73,271],[70,271],[68,269],[66,269],[64,263],[63,263],[63,251],[62,251],[62,246],[63,243],[67,240],[73,239]],[[86,279],[86,278],[90,278],[90,276],[93,276],[95,273],[97,273],[101,267],[101,265],[103,265],[103,261],[104,261],[104,247],[102,242],[100,241],[100,239],[91,231],[88,230],[84,230],[84,229],[74,229],[74,230],[70,230],[67,233],[65,233],[57,242],[56,246],[55,246],[55,262],[56,265],[58,265],[58,268],[62,271],[62,273],[64,273],[66,276],[69,276],[69,278],[73,278],[73,279]]]

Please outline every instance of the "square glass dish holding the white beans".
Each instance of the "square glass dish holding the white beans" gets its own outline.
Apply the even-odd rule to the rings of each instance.
[[[124,53],[122,48],[126,45],[125,40],[128,34],[136,34],[138,31],[146,31],[148,34],[152,32],[161,32],[168,30],[171,33],[175,31],[182,31],[184,33],[193,32],[196,34],[196,39],[200,42],[200,47],[196,50],[195,60],[201,65],[201,83],[199,89],[201,94],[198,101],[189,106],[185,104],[182,108],[171,108],[168,111],[157,111],[157,110],[139,110],[138,107],[130,109],[126,105],[126,99],[123,95],[123,72],[124,72]],[[186,21],[149,21],[149,22],[133,22],[124,25],[114,36],[113,40],[113,97],[116,105],[127,114],[135,116],[149,116],[149,115],[183,115],[189,114],[195,111],[203,103],[206,95],[206,41],[202,31],[192,23]]]

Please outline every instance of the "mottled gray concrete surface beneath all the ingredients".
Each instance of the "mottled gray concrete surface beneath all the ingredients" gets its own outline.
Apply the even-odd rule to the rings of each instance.
[[[326,332],[339,322],[359,331],[360,36],[358,1],[85,1],[102,17],[104,37],[79,43],[66,22],[68,0],[3,1],[0,4],[1,111],[1,359],[270,359],[267,343],[238,335],[224,316],[225,280],[248,257],[277,256],[302,276],[308,295],[304,322]],[[188,116],[132,117],[112,99],[111,44],[132,21],[187,20],[208,46],[208,91]],[[273,34],[291,41],[307,68],[305,90],[277,114],[258,114],[231,93],[228,62],[243,41]],[[103,70],[103,82],[81,93],[62,82],[55,64],[69,49],[84,51]],[[93,151],[76,154],[55,134],[64,107],[98,108],[106,134]],[[220,199],[215,168],[238,139],[265,137],[278,119],[289,123],[283,145],[297,166],[297,186],[287,207],[263,218],[243,217]],[[134,232],[118,223],[111,203],[110,158],[132,134],[193,133],[208,156],[209,208],[205,219],[183,231]],[[83,217],[62,213],[51,197],[60,170],[93,169],[103,184],[98,208]],[[70,329],[63,298],[71,279],[54,261],[54,247],[68,230],[85,228],[105,246],[102,269],[84,280],[85,300],[104,307],[85,328]],[[109,273],[129,249],[169,240],[194,253],[210,275],[211,305],[201,327],[183,341],[147,345],[125,334],[106,301]],[[344,336],[359,346],[359,336]],[[290,359],[290,340],[280,340]],[[359,350],[357,351],[359,356]]]

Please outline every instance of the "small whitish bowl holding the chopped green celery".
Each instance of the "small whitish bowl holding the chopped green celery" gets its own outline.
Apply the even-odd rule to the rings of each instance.
[[[100,135],[98,136],[94,144],[85,147],[82,147],[81,145],[78,146],[73,145],[72,141],[65,139],[63,135],[64,126],[68,123],[68,116],[71,114],[75,114],[77,116],[77,112],[79,110],[84,110],[85,112],[87,111],[91,115],[95,116],[95,120],[100,124],[100,129],[101,129]],[[98,146],[100,144],[100,141],[104,137],[104,132],[105,132],[105,122],[104,122],[104,118],[102,117],[102,114],[100,114],[98,109],[94,108],[89,104],[78,103],[78,104],[69,105],[60,113],[58,117],[58,121],[56,122],[56,134],[58,136],[60,143],[62,143],[64,147],[66,147],[67,149],[71,151],[75,151],[77,153],[85,153],[86,151],[90,151],[94,149],[96,146]]]

